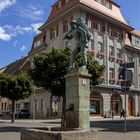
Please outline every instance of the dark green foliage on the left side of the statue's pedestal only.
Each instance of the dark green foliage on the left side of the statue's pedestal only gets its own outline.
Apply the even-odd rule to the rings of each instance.
[[[51,90],[53,95],[63,96],[70,49],[53,49],[50,53],[42,53],[34,57],[34,67],[30,75],[38,87]]]

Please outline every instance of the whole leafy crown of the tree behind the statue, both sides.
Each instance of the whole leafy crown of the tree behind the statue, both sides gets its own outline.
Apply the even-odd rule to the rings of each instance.
[[[38,87],[50,90],[53,95],[65,95],[65,78],[70,63],[71,50],[53,49],[50,53],[41,53],[34,57],[34,67],[30,70],[30,75]],[[91,86],[98,85],[102,81],[104,67],[93,60],[94,53],[88,52],[89,73],[92,74]],[[81,63],[80,55],[77,56],[77,68]]]

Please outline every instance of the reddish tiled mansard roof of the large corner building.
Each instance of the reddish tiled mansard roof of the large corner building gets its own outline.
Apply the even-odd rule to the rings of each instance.
[[[122,16],[119,5],[117,5],[114,1],[111,1],[112,2],[112,9],[105,7],[104,5],[96,2],[95,0],[71,0],[68,3],[66,3],[65,5],[63,5],[63,7],[57,9],[56,5],[58,4],[58,2],[56,2],[52,6],[52,11],[51,11],[50,16],[47,19],[47,21],[44,23],[44,25],[42,25],[39,28],[40,30],[42,30],[46,26],[47,23],[51,22],[57,16],[63,14],[64,12],[68,11],[70,8],[72,8],[73,6],[75,6],[77,4],[83,4],[85,6],[88,6],[92,9],[94,9],[94,10],[96,10],[96,11],[98,11],[98,12],[100,12],[108,17],[111,17],[111,18],[128,26],[128,23],[126,22],[126,20]]]

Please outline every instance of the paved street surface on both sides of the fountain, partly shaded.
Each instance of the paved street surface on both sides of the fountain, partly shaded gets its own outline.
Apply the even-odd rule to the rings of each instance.
[[[124,120],[120,118],[90,118],[91,129],[97,131],[96,140],[140,140],[140,118],[127,118],[127,133],[124,133]],[[58,127],[60,120],[10,120],[0,119],[0,140],[20,140],[25,128]]]

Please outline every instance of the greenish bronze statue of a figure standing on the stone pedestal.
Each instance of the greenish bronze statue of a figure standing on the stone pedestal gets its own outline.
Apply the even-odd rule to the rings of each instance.
[[[70,60],[70,69],[75,68],[75,59],[78,53],[82,57],[82,67],[86,68],[87,66],[87,48],[89,47],[89,41],[92,37],[92,34],[86,27],[84,21],[78,18],[76,21],[73,20],[70,23],[71,30],[65,35],[64,39],[71,40],[75,38],[77,41],[76,47],[72,51],[71,60]]]

